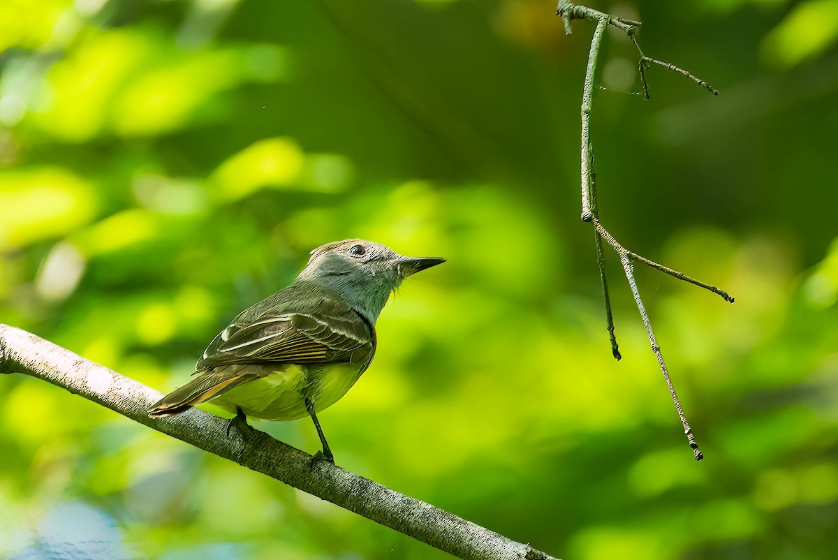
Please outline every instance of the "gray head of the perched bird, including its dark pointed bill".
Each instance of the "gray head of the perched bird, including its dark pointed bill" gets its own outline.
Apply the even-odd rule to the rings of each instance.
[[[445,259],[438,257],[403,257],[379,243],[347,239],[312,251],[297,278],[332,288],[375,324],[390,293],[402,280],[442,262]]]

